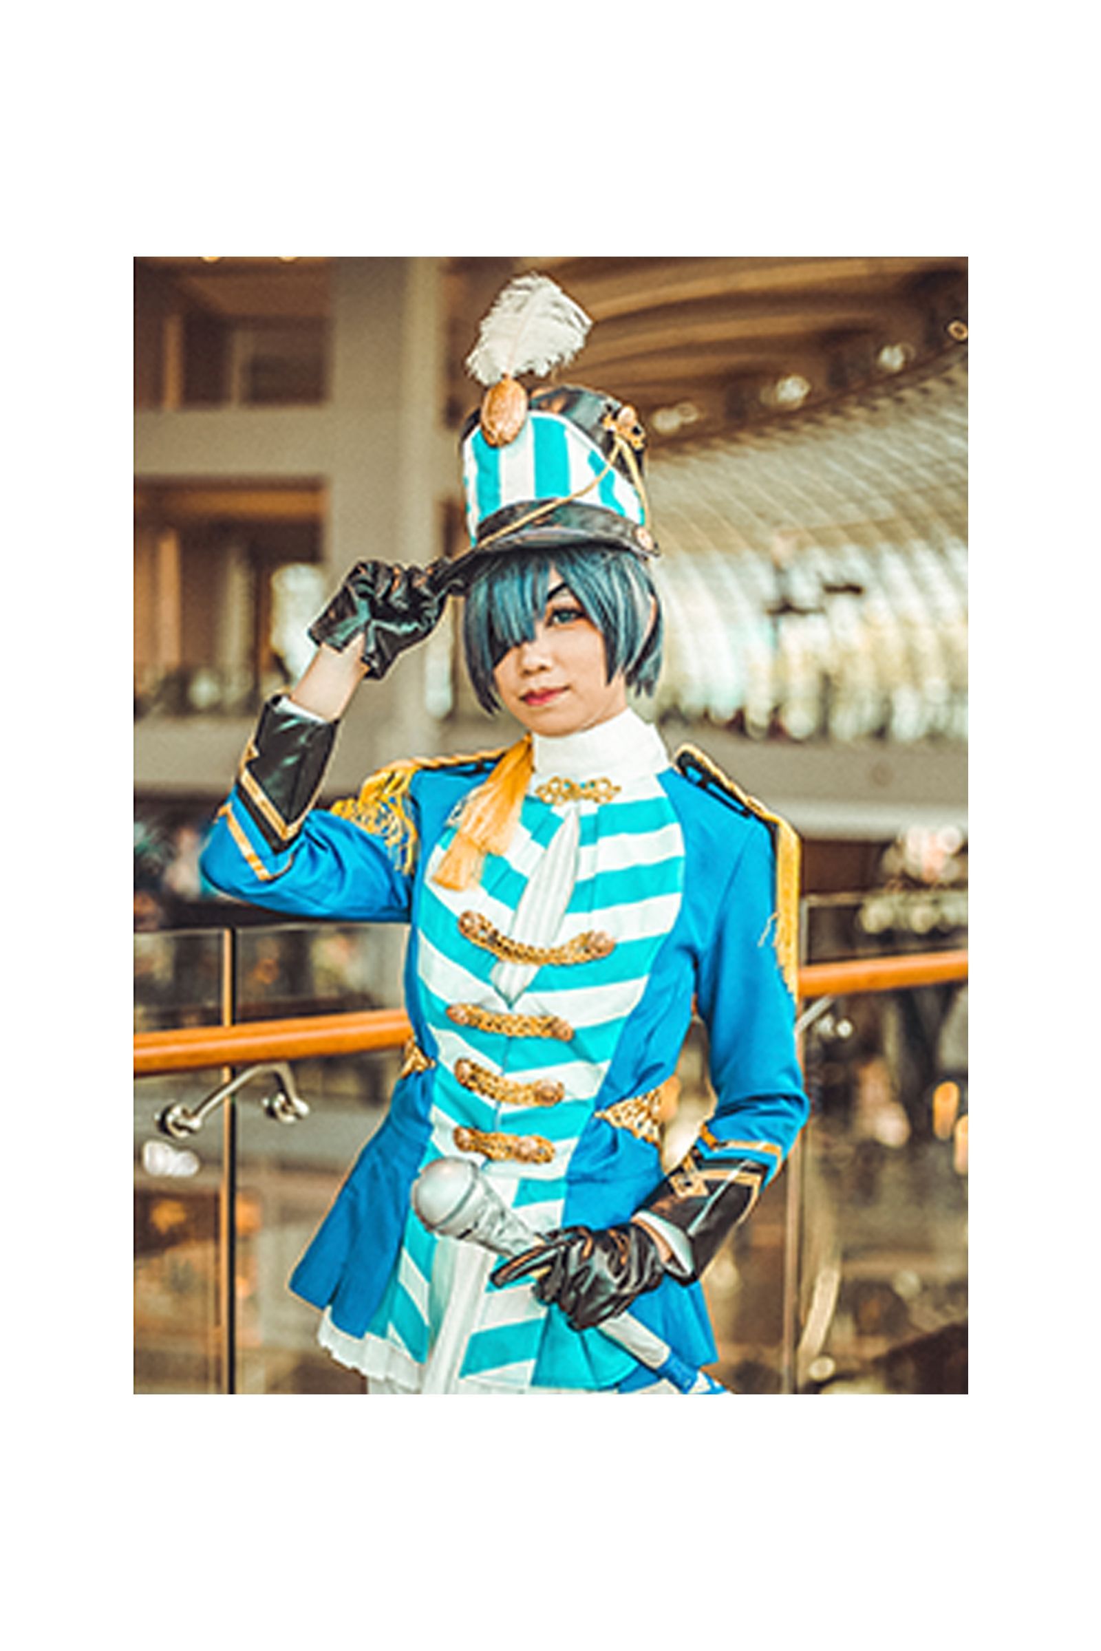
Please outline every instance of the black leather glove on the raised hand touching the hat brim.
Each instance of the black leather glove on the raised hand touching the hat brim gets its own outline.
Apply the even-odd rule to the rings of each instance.
[[[439,621],[454,581],[449,563],[401,568],[391,561],[357,561],[314,621],[309,637],[338,654],[363,632],[368,677],[385,677],[398,654],[428,636]]]

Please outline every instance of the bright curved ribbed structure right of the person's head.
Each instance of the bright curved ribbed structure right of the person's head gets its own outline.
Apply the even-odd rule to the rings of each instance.
[[[967,736],[967,360],[654,454],[664,703],[751,738]]]

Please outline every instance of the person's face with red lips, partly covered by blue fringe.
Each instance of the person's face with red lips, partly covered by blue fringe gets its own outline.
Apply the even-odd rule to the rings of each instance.
[[[551,568],[535,636],[508,649],[494,670],[502,705],[532,733],[594,728],[627,708],[622,672],[607,682],[606,669],[604,637]]]

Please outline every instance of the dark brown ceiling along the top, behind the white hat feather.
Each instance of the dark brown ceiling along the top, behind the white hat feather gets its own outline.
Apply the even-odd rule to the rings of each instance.
[[[142,258],[200,310],[317,325],[328,258]],[[631,401],[652,449],[789,418],[921,367],[966,335],[964,258],[446,258],[446,409],[477,398],[464,360],[510,276],[538,269],[589,314],[571,373]]]

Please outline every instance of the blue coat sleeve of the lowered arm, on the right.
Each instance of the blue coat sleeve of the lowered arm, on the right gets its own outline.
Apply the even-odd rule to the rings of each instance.
[[[773,835],[763,821],[751,819],[697,974],[716,1096],[697,1151],[754,1159],[769,1179],[809,1109],[796,1055],[796,1004],[776,958],[774,913]]]

